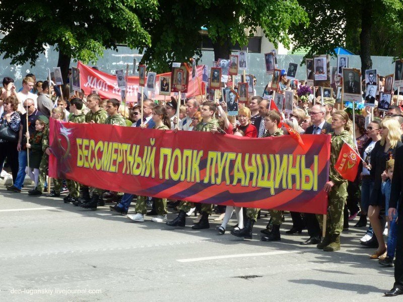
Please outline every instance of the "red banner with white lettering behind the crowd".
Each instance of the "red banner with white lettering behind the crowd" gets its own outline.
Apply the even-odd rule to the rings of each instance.
[[[197,78],[192,81],[191,72],[189,74],[189,86],[186,93],[186,98],[202,95],[205,93],[205,83],[201,80],[203,78],[203,67],[204,65],[197,66]],[[85,95],[89,95],[91,90],[97,90],[99,96],[102,99],[118,99],[120,100],[120,91],[116,82],[116,75],[109,74],[100,70],[96,70],[91,68],[90,66],[84,65],[81,62],[77,63],[77,68],[80,68],[80,83],[81,89],[84,90]],[[124,71],[124,70],[123,70]],[[155,95],[152,97],[153,100],[164,100],[166,98],[169,100],[169,96],[160,96],[158,95],[159,86],[160,86],[160,77],[171,77],[171,72],[157,74],[156,80],[156,91]],[[147,78],[146,78],[147,83]],[[200,85],[199,85],[200,84]],[[144,90],[147,93],[147,89]],[[127,79],[127,91],[126,91],[126,101],[127,102],[137,102],[137,94],[140,93],[139,89],[139,77],[128,77]],[[148,97],[151,98],[151,92],[148,93]],[[174,95],[173,93],[171,94]]]

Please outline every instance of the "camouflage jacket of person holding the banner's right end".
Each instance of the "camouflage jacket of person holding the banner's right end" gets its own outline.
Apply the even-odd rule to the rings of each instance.
[[[338,135],[331,133],[329,180],[331,180],[335,185],[341,185],[342,183],[347,182],[347,180],[341,177],[339,172],[334,169],[334,166],[340,155],[340,150],[342,149],[345,141],[350,146],[354,146],[353,136],[349,131],[343,130]]]

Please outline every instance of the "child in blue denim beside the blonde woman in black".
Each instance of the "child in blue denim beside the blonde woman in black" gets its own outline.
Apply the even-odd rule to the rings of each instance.
[[[386,162],[386,170],[385,172],[382,173],[381,189],[382,194],[385,195],[385,212],[387,220],[389,220],[387,212],[389,210],[390,187],[392,183],[393,167],[394,167],[394,160],[392,159],[388,160]],[[389,232],[387,236],[387,253],[385,259],[379,260],[379,264],[384,266],[393,266],[393,258],[394,258],[394,252],[396,250],[396,241],[397,241],[396,220],[397,220],[397,211],[395,215],[392,217],[392,221],[388,221]]]

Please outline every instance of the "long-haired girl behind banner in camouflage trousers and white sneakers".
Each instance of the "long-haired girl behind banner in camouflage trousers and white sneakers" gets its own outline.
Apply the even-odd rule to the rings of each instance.
[[[153,109],[152,113],[153,121],[155,122],[154,129],[170,130],[171,120],[164,106],[157,105]],[[141,126],[142,129],[146,128],[146,125]],[[136,201],[136,214],[127,215],[132,221],[144,222],[144,214],[147,213],[146,196],[138,196]],[[167,200],[166,198],[154,198],[155,209],[157,217],[153,217],[151,220],[154,222],[163,222],[167,220]]]

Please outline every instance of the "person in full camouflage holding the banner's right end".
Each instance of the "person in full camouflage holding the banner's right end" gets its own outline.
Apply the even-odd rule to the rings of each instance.
[[[325,191],[328,192],[328,208],[326,217],[326,235],[321,243],[316,247],[325,252],[340,250],[340,234],[343,231],[344,205],[347,199],[347,180],[342,178],[335,169],[335,164],[339,158],[344,142],[353,146],[353,137],[347,130],[346,125],[349,117],[345,111],[336,111],[332,118],[332,128],[330,145],[330,170],[329,181],[325,184]],[[346,129],[347,128],[347,129]],[[317,215],[320,227],[323,229],[323,216]]]

